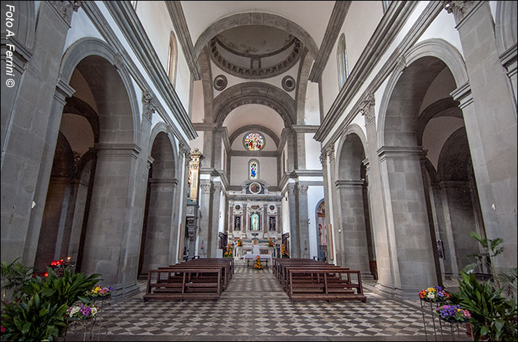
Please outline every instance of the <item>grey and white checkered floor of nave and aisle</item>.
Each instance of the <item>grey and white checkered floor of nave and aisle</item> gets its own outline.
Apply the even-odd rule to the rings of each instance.
[[[144,289],[144,283],[141,283]],[[219,301],[142,300],[143,292],[111,304],[111,341],[426,341],[419,301],[395,301],[372,293],[367,303],[295,302],[271,273],[236,262]],[[433,322],[426,315],[428,340]],[[104,320],[105,326],[107,321]],[[435,320],[438,324],[438,320]],[[442,339],[440,336],[439,339]],[[444,330],[444,338],[451,335]],[[462,336],[455,336],[462,340]]]

